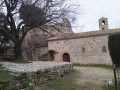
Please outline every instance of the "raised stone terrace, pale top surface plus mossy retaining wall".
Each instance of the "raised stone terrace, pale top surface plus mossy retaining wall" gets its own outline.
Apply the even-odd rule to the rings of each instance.
[[[19,72],[7,81],[0,81],[0,90],[36,90],[45,82],[71,72],[73,65],[68,62],[33,62],[20,64],[1,62],[3,67],[13,72]],[[24,69],[23,69],[24,68]]]

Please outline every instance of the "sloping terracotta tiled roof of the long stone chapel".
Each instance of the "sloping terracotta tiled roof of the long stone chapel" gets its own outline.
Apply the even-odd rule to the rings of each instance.
[[[120,28],[109,29],[109,30],[90,31],[90,32],[82,32],[82,33],[64,34],[64,35],[59,35],[59,36],[49,38],[48,41],[63,40],[63,39],[74,39],[74,38],[85,38],[85,37],[91,37],[91,36],[105,36],[105,35],[116,34],[116,33],[120,33]]]

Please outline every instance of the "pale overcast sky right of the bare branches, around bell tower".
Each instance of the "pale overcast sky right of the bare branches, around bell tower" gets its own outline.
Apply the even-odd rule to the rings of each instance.
[[[99,30],[98,20],[108,18],[109,28],[120,28],[120,0],[74,0],[81,13],[73,26],[74,32]]]

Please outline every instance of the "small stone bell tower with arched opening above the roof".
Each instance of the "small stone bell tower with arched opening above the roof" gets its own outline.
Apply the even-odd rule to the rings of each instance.
[[[102,17],[99,19],[99,28],[100,30],[108,30],[108,19],[105,17]]]

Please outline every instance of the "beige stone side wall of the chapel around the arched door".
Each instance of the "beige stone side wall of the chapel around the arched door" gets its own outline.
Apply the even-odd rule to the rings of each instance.
[[[48,46],[49,50],[56,52],[54,61],[63,61],[63,54],[68,53],[72,63],[112,64],[108,50],[108,35],[51,40]]]

